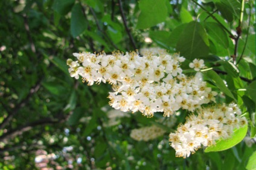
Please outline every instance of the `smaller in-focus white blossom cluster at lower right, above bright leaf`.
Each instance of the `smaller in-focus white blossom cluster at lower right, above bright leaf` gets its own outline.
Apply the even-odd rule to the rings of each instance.
[[[187,117],[186,123],[180,124],[175,133],[170,133],[170,145],[177,157],[188,157],[202,145],[209,147],[219,139],[231,138],[234,129],[247,124],[234,103],[200,108],[197,113]]]

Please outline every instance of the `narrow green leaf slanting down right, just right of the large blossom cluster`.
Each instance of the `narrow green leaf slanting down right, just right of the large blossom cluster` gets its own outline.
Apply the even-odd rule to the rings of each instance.
[[[231,97],[235,100],[234,95],[231,93],[231,91],[226,87],[225,83],[223,82],[222,78],[213,70],[204,71],[203,74],[207,76],[212,82],[215,83],[215,85],[227,96]]]

